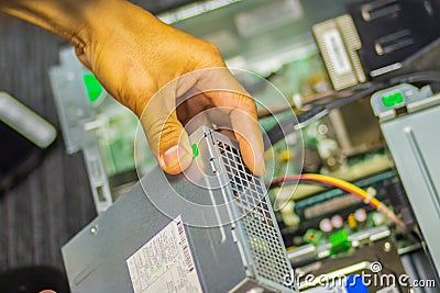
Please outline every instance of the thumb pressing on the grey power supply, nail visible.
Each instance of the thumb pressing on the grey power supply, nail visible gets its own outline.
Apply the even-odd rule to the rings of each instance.
[[[176,111],[161,103],[148,105],[141,116],[146,139],[162,169],[176,174],[189,167],[193,151]]]

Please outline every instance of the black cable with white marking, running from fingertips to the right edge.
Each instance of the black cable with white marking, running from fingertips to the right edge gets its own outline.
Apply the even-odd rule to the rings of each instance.
[[[362,90],[359,90],[349,97],[339,98],[338,100],[331,101],[327,104],[317,105],[311,110],[297,115],[296,117],[280,121],[279,123],[277,123],[277,125],[266,132],[266,135],[264,136],[264,149],[268,149],[274,144],[282,140],[287,134],[301,129],[307,125],[310,125],[311,123],[320,120],[321,117],[329,114],[331,110],[340,109],[361,98],[371,95],[378,90],[389,88],[399,83],[413,82],[440,82],[440,71],[421,71],[393,77],[387,81],[364,83],[362,87],[359,87],[359,89]]]

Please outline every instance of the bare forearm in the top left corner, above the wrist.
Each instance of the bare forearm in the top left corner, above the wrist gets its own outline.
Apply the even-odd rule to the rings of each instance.
[[[98,12],[124,0],[0,0],[0,12],[22,19],[69,41],[86,43]]]

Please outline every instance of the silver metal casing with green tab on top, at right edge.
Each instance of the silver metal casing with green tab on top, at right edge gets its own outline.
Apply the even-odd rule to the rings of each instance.
[[[386,106],[384,99],[396,94]],[[372,106],[439,272],[440,95],[403,83],[373,94]]]

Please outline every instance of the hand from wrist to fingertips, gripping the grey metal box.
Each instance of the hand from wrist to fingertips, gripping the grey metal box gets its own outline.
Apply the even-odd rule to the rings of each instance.
[[[103,4],[94,13],[96,21],[79,31],[77,40],[81,42],[76,52],[107,91],[141,119],[162,168],[178,173],[190,165],[191,147],[182,123],[217,108],[224,120],[230,120],[248,167],[263,174],[255,103],[224,68],[217,47],[162,23],[129,2],[109,2],[112,4]],[[206,68],[218,69],[202,70]],[[165,84],[167,89],[155,95]],[[209,92],[204,93],[206,90]],[[176,111],[176,98],[188,91],[202,93]]]

